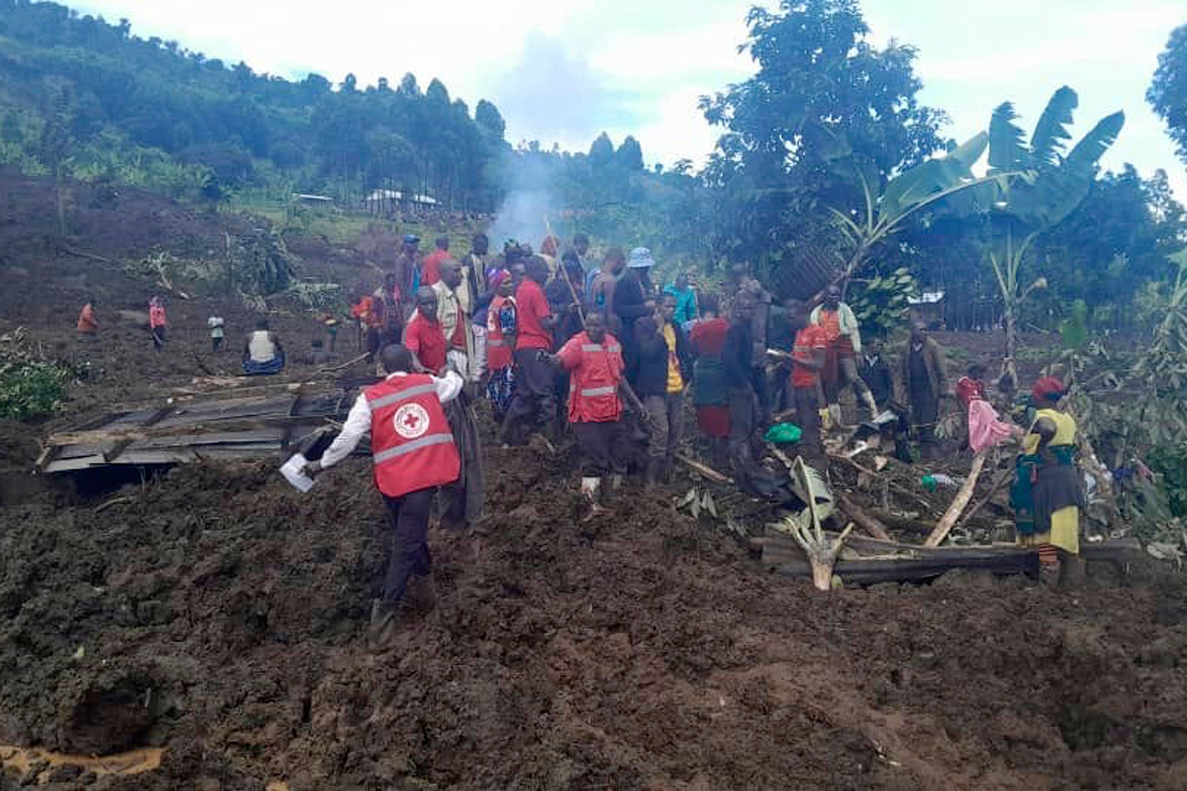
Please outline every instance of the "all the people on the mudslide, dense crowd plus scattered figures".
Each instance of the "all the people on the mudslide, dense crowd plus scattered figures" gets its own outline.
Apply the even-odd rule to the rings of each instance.
[[[342,431],[305,470],[319,474],[370,434],[375,482],[396,536],[373,608],[376,629],[393,622],[406,599],[432,606],[426,536],[434,493],[444,494],[444,527],[471,524],[482,512],[480,399],[489,403],[504,447],[538,437],[554,449],[561,437],[573,438],[592,515],[626,476],[636,475],[645,488],[668,480],[687,460],[687,425],[710,462],[744,485],[761,469],[763,431],[774,424],[794,423],[798,453],[825,462],[823,435],[844,423],[845,391],[903,461],[915,457],[909,438],[920,457],[934,457],[940,405],[953,398],[966,418],[965,447],[1026,435],[1011,501],[1020,540],[1039,546],[1045,572],[1077,555],[1074,422],[1055,409],[1064,396],[1056,380],[1036,385],[1029,431],[1011,429],[985,400],[983,366],[950,386],[944,350],[922,324],[909,328],[891,363],[882,338],[863,343],[836,285],[819,304],[775,300],[743,262],[716,286],[702,287],[687,272],[660,285],[648,248],[609,247],[595,262],[584,234],[566,246],[550,234],[539,253],[513,241],[491,253],[484,234],[474,235],[464,255],[451,252],[447,236],[425,255],[419,245],[404,236],[382,283],[357,296],[350,318],[358,346],[383,378],[360,393]],[[332,353],[338,319],[320,319]],[[164,348],[169,319],[158,298],[148,324],[154,347]],[[217,353],[226,322],[211,316],[208,328]],[[88,303],[78,333],[97,331]],[[324,359],[320,341],[315,346],[313,357]],[[242,354],[248,374],[285,366],[284,346],[264,319]]]

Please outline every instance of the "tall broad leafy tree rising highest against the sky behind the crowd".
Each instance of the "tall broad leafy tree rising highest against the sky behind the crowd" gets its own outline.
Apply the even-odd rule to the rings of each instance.
[[[779,13],[753,8],[748,24],[757,74],[700,100],[725,127],[706,177],[722,190],[718,247],[779,264],[796,242],[834,235],[825,207],[865,203],[832,160],[858,152],[877,194],[941,147],[945,119],[916,100],[915,51],[869,44],[856,0],[781,0]]]

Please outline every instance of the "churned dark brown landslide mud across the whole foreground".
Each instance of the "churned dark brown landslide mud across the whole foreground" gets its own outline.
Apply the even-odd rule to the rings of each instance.
[[[144,205],[166,227],[218,228]],[[151,286],[104,268],[70,286],[77,261],[46,255],[40,293],[61,308],[5,305],[45,342],[72,343],[71,287],[132,303]],[[189,322],[211,306],[174,311],[179,343],[198,350]],[[50,321],[63,310],[68,331]],[[106,336],[104,374],[72,388],[71,415],[193,375],[146,341]],[[487,518],[431,537],[438,612],[373,653],[387,542],[364,461],[317,496],[271,460],[107,492],[28,482],[57,423],[0,424],[0,743],[166,749],[154,772],[59,768],[49,787],[1183,786],[1187,591],[1173,570],[1092,568],[1062,591],[950,574],[821,595],[678,511],[687,481],[628,487],[582,523],[564,450],[488,449]]]

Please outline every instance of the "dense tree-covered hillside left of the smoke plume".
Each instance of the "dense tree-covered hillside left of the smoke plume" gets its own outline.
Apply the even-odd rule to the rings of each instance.
[[[507,147],[494,105],[471,115],[437,80],[292,82],[52,2],[0,0],[0,77],[5,162],[135,181],[128,171],[160,169],[163,152],[179,190],[208,175],[231,188],[283,177],[299,191],[393,186],[489,209],[488,165]]]

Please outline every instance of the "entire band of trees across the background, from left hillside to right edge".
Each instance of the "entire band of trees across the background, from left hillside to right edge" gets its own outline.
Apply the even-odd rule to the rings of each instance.
[[[374,86],[353,75],[338,86],[316,74],[291,81],[140,38],[126,19],[0,0],[0,164],[195,201],[319,192],[350,207],[386,188],[488,214],[509,194],[533,191],[563,233],[579,223],[705,270],[750,260],[780,293],[808,296],[821,277],[856,262],[848,274],[857,296],[871,306],[897,304],[878,278],[906,267],[904,287],[946,291],[966,308],[950,323],[967,327],[1003,317],[1009,299],[990,259],[1010,230],[1032,240],[1017,261],[1029,279],[1016,292],[1040,276],[1046,286],[1018,302],[1024,327],[1056,330],[1083,314],[1102,330],[1132,329],[1157,303],[1175,271],[1168,257],[1187,241],[1187,217],[1166,173],[1098,172],[1111,140],[1074,183],[1065,178],[1071,169],[1043,179],[1069,196],[1056,210],[1011,216],[966,196],[959,207],[913,209],[893,233],[855,241],[838,217],[876,220],[870,209],[884,208],[897,176],[965,141],[947,137],[942,108],[919,101],[915,50],[876,46],[856,0],[785,0],[748,21],[756,74],[702,100],[722,134],[698,171],[690,160],[647,167],[635,139],[616,146],[604,133],[588,152],[540,141],[513,147],[495,103],[478,100],[471,112],[440,81],[423,89],[411,72]],[[1173,32],[1160,63],[1149,101],[1187,162],[1187,26]],[[996,124],[1023,141],[1017,125],[1036,125],[1027,141],[1036,160],[1013,163],[1018,172],[1052,176],[1071,154],[1075,93],[1050,89],[1037,119],[1015,119],[1009,96],[985,108],[986,128]],[[991,169],[1010,172],[992,156]],[[1040,262],[1041,272],[1027,271]]]

